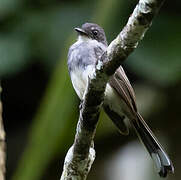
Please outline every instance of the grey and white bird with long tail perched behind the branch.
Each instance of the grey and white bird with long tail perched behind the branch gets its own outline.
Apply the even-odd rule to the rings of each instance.
[[[88,77],[107,50],[108,43],[104,29],[97,24],[84,23],[74,29],[78,38],[69,48],[67,65],[73,88],[80,100],[83,100]],[[128,124],[133,126],[160,177],[166,177],[169,172],[174,173],[172,161],[138,111],[134,90],[122,66],[106,84],[103,109],[121,134],[128,135]]]

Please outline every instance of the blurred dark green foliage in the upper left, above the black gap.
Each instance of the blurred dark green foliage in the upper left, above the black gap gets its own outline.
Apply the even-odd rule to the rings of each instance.
[[[59,59],[60,52],[64,51],[63,44],[72,31],[72,24],[85,21],[89,15],[86,10],[88,4],[67,4],[63,8],[59,4],[50,6],[49,9],[34,9],[31,6],[27,8],[26,3],[21,3],[20,6],[18,1],[0,3],[10,8],[4,9],[6,13],[0,21],[3,25],[0,31],[1,77],[22,70],[25,65],[32,63],[32,58],[43,60],[42,63],[50,70]],[[18,5],[20,7],[16,9]],[[17,11],[16,14],[12,7]]]

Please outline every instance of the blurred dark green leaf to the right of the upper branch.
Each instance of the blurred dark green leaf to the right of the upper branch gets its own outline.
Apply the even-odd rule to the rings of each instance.
[[[176,28],[173,28],[176,25]],[[181,79],[180,17],[159,16],[139,48],[128,61],[131,69],[160,86],[176,84]]]

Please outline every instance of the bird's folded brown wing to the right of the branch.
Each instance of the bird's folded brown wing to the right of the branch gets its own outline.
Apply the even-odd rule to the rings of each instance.
[[[121,99],[127,104],[133,113],[137,112],[136,98],[134,90],[120,66],[114,75],[110,78],[109,84],[115,89]]]

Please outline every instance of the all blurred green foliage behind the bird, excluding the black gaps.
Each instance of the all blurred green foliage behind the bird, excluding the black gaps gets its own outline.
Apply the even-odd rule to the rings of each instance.
[[[51,76],[13,180],[41,179],[52,159],[64,154],[73,142],[78,99],[66,67],[68,48],[76,39],[73,27],[89,21],[98,23],[111,42],[136,3],[131,0],[0,1],[0,76],[14,77],[33,63],[40,63]],[[159,87],[171,87],[181,81],[181,21],[177,14],[173,18],[167,9],[162,11],[126,61],[126,67],[134,72],[133,79],[142,77]],[[97,139],[115,131],[104,113],[100,119]],[[61,174],[61,167],[56,173]]]

